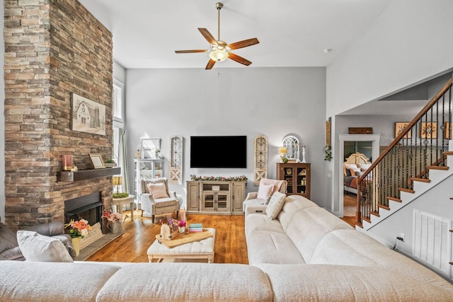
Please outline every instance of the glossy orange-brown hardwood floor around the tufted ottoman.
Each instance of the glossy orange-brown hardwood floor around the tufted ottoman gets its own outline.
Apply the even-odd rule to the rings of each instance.
[[[123,215],[130,217],[130,211],[124,211]],[[216,229],[214,263],[248,264],[244,216],[187,214],[187,220]],[[149,217],[140,217],[136,211],[134,221],[127,218],[123,223],[124,234],[86,261],[148,262],[147,250],[160,230],[160,224],[153,224]]]

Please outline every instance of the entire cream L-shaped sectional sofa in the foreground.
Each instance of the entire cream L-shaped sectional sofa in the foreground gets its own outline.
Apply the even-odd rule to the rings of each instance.
[[[246,208],[249,265],[0,262],[0,301],[453,301],[453,285],[289,196]]]

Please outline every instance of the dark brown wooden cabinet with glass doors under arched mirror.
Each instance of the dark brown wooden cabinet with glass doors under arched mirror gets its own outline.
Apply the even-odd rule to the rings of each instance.
[[[288,195],[297,194],[310,199],[309,163],[277,163],[277,179],[288,182]]]

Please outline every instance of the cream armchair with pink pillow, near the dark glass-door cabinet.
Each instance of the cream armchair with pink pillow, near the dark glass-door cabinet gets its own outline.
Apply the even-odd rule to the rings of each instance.
[[[246,211],[246,206],[249,204],[268,204],[270,197],[277,191],[286,194],[287,185],[286,180],[261,178],[258,192],[249,192],[246,200],[243,201],[243,211]]]

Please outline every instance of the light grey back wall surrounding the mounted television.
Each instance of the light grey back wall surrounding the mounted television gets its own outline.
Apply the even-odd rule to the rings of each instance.
[[[246,175],[251,192],[256,190],[252,182],[254,137],[268,137],[268,177],[275,178],[275,163],[280,161],[277,146],[283,137],[295,134],[306,146],[306,161],[312,164],[311,197],[323,207],[325,76],[323,67],[127,69],[128,147],[134,150],[144,134],[160,137],[168,177],[169,137],[182,135],[183,185],[172,185],[172,190],[185,195],[185,181],[191,174]],[[194,135],[246,135],[248,168],[190,169],[189,144]]]

